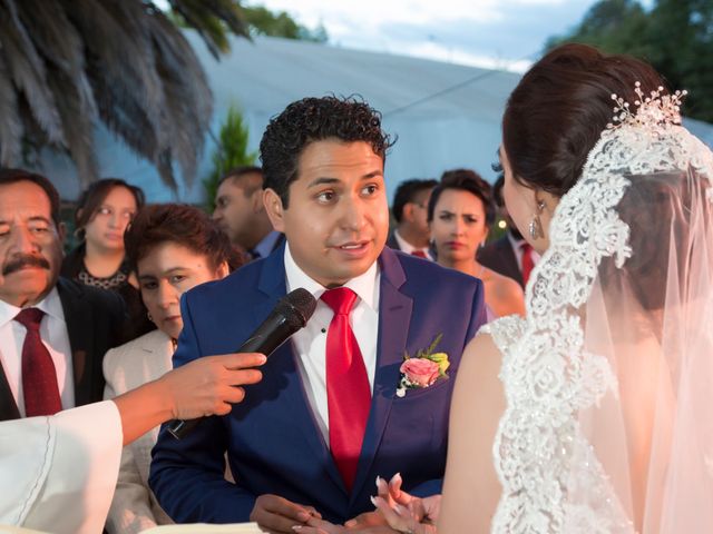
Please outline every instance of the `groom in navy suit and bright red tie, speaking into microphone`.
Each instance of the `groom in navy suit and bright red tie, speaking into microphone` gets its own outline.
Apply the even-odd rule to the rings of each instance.
[[[318,307],[224,417],[154,448],[150,486],[177,522],[251,518],[294,532],[310,514],[343,523],[373,511],[377,475],[438,493],[450,396],[466,344],[485,320],[481,283],[384,248],[389,137],[367,103],[306,98],[261,142],[264,202],[286,244],[187,293],[174,365],[234,352],[297,287]],[[428,387],[399,389],[404,355],[450,360]],[[416,379],[416,378],[414,378]],[[235,483],[224,478],[226,457]],[[378,522],[364,514],[359,524]]]

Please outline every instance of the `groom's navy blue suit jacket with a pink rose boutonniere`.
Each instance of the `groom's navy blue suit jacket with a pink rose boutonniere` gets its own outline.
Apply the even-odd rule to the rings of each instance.
[[[285,295],[284,247],[227,278],[188,291],[179,366],[237,349]],[[176,441],[162,433],[149,484],[177,522],[248,520],[258,495],[271,493],[315,506],[344,522],[373,510],[377,475],[400,472],[418,495],[440,492],[446,467],[450,397],[466,344],[485,322],[480,280],[385,248],[379,258],[381,294],[371,412],[351,494],[346,492],[307,402],[291,343],[262,367],[229,415],[209,417]],[[442,334],[450,377],[395,396],[404,353],[414,355]],[[224,479],[224,454],[235,484]]]

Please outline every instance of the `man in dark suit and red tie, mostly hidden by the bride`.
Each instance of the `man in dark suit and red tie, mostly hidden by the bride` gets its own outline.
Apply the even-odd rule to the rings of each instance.
[[[539,261],[539,254],[522,238],[510,218],[502,199],[504,184],[505,178],[500,176],[492,185],[492,196],[508,229],[505,236],[478,250],[478,261],[502,276],[512,278],[525,289],[533,268]]]

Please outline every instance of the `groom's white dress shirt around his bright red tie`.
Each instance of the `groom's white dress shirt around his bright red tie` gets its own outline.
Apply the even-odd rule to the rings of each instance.
[[[316,309],[306,326],[292,336],[293,347],[300,360],[300,375],[312,412],[329,446],[329,409],[326,403],[326,333],[334,312],[320,297],[326,290],[310,278],[295,263],[290,246],[285,246],[285,276],[287,293],[303,287],[316,298]],[[377,261],[363,275],[352,278],[344,287],[352,289],[359,299],[352,308],[350,325],[364,358],[369,386],[373,392],[377,368],[377,342],[379,337],[379,281],[381,275]]]

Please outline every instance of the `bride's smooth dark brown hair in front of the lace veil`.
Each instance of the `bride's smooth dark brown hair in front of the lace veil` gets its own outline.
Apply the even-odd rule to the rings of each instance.
[[[515,179],[558,197],[567,192],[612,122],[612,93],[633,107],[636,81],[645,93],[664,85],[651,66],[628,56],[606,56],[586,44],[548,52],[522,77],[502,117]]]

